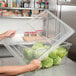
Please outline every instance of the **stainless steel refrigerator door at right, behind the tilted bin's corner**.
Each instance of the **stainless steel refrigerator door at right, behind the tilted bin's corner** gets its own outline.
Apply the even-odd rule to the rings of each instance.
[[[59,0],[58,16],[76,31],[76,0]],[[76,33],[68,41],[72,43],[68,57],[76,61]]]

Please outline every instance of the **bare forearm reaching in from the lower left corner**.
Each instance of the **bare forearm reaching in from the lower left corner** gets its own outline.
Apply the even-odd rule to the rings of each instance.
[[[37,69],[37,67],[31,64],[26,66],[4,66],[0,68],[0,74],[4,76],[14,76],[25,72],[33,71],[35,69]]]

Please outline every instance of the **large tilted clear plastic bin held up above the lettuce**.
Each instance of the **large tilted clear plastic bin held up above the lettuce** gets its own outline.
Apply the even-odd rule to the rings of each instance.
[[[18,19],[18,18],[15,20],[14,19],[10,19],[10,20],[12,23],[15,22],[15,20],[17,20],[18,23],[17,22],[14,23],[15,25],[16,24],[20,25],[22,23],[23,26],[25,24],[27,26],[27,28],[25,26],[25,28],[17,27],[17,29],[15,29],[18,35],[22,34],[21,37],[18,36],[16,40],[19,40],[20,38],[23,39],[24,32],[29,32],[30,30],[31,31],[43,30],[40,32],[37,31],[36,36],[25,37],[25,41],[22,42],[14,42],[14,40],[12,42],[12,40],[8,38],[3,40],[3,44],[7,47],[9,52],[11,52],[13,56],[18,58],[21,63],[24,62],[29,63],[29,61],[35,58],[43,60],[45,57],[48,56],[50,52],[53,51],[53,49],[57,48],[60,44],[62,44],[74,33],[74,30],[69,25],[58,19],[55,15],[53,15],[48,10],[45,10],[44,12],[33,17],[32,19],[29,19],[27,22],[25,21],[26,19]],[[19,24],[19,22],[21,23]],[[26,38],[32,40],[27,41]],[[38,48],[35,46],[34,46],[34,50],[32,49],[33,51],[32,54],[34,57],[32,57],[30,53],[29,53],[29,57],[26,56],[27,53],[25,54],[26,57],[24,57],[23,48],[31,49],[33,48],[33,45],[35,45],[36,43],[39,43],[37,44],[39,49],[35,49]]]

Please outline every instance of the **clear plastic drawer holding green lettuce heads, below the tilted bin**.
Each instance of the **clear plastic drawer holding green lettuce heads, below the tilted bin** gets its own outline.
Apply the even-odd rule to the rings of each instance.
[[[52,52],[50,51],[51,45],[43,44],[41,42],[37,42],[33,45],[19,44],[5,46],[17,59],[19,59],[21,64],[28,64],[33,59],[41,59],[41,56],[47,51],[49,51],[48,55],[41,60],[44,60],[46,57],[53,59],[59,56],[61,58],[59,64],[63,64],[66,61],[66,56],[68,55],[71,45],[71,43],[64,42],[57,48],[53,49]],[[55,55],[56,53],[57,55]]]

